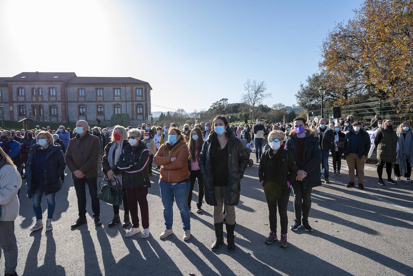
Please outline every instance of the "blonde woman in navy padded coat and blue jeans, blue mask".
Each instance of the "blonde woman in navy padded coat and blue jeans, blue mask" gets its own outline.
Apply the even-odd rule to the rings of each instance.
[[[43,228],[42,198],[47,198],[46,231],[52,230],[53,213],[56,207],[56,192],[62,188],[60,178],[66,168],[63,151],[54,145],[52,134],[41,131],[36,137],[37,144],[30,148],[26,165],[27,196],[33,198],[36,221],[31,231]]]

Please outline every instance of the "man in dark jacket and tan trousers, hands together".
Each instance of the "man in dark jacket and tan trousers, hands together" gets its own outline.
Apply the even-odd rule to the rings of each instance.
[[[354,168],[357,165],[358,189],[363,190],[364,160],[370,151],[370,136],[361,128],[361,122],[354,122],[353,128],[346,133],[343,144],[343,156],[349,167],[350,182],[347,188],[354,186]]]

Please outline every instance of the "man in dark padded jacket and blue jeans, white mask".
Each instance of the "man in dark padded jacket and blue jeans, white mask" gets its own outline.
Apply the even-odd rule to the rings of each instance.
[[[324,118],[320,119],[320,126],[317,128],[318,132],[318,142],[320,143],[321,148],[321,162],[323,164],[321,173],[324,172],[324,181],[328,181],[328,157],[330,154],[331,143],[334,141],[334,131],[327,126],[327,121]]]

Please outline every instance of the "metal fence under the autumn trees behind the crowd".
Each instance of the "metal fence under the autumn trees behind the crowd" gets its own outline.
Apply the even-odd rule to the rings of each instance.
[[[323,108],[325,118],[333,118],[332,107]],[[392,120],[393,125],[400,125],[407,121],[413,123],[413,96],[392,100],[379,100],[368,103],[357,103],[341,106],[341,117],[346,120],[347,115],[353,115],[354,120],[363,120],[366,126],[370,126],[371,119],[378,114],[383,119]],[[321,118],[321,109],[311,110],[309,119]],[[337,118],[336,118],[337,119]]]

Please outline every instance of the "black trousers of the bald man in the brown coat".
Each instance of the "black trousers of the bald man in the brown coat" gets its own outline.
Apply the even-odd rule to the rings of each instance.
[[[89,188],[90,198],[92,199],[93,217],[100,215],[100,202],[97,198],[97,177],[80,178],[73,180],[76,197],[78,198],[79,217],[86,217],[86,185]]]

